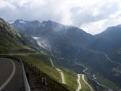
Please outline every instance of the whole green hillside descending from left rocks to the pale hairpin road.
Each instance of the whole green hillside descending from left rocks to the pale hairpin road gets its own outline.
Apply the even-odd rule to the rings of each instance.
[[[26,39],[24,40],[25,37],[23,37],[3,19],[0,19],[0,55],[12,56],[12,58],[23,61],[32,91],[36,89],[76,91],[78,88],[77,74],[57,67],[64,75],[65,83],[62,83],[62,73],[57,70],[56,65],[52,67],[51,56],[45,51],[32,49],[35,46],[30,46],[31,42],[26,43]],[[80,91],[90,91],[81,78],[80,83],[82,84]]]

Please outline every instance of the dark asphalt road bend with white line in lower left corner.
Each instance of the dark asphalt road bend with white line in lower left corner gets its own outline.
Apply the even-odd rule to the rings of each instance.
[[[21,64],[0,58],[0,91],[25,91]]]

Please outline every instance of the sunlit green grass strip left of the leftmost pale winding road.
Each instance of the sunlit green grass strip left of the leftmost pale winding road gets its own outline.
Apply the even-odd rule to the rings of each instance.
[[[34,65],[40,71],[50,76],[52,79],[55,79],[58,82],[61,82],[59,73],[54,68],[52,68],[49,64],[46,64],[46,61],[47,61],[46,58],[42,57],[41,55],[40,57],[38,55],[37,56],[30,55],[30,56],[24,56],[22,58],[26,63],[30,65]]]

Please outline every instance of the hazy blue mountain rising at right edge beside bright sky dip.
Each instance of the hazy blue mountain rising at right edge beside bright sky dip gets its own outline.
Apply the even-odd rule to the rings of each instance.
[[[109,27],[95,37],[93,48],[106,52],[114,61],[121,63],[121,25]]]

